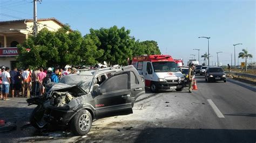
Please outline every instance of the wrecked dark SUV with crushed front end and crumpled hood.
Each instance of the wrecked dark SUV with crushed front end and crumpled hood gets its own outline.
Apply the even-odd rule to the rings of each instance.
[[[44,96],[27,99],[29,105],[38,105],[30,122],[38,129],[49,124],[70,126],[74,134],[84,135],[98,115],[132,113],[134,101],[145,93],[144,84],[133,66],[64,76]]]

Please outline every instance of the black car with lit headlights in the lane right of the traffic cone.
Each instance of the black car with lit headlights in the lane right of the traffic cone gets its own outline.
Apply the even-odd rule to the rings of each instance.
[[[226,74],[221,67],[207,67],[205,71],[205,81],[224,81],[227,82]]]

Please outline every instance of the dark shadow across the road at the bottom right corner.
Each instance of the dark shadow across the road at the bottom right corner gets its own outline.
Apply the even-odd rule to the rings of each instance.
[[[135,142],[255,142],[256,130],[145,128]]]

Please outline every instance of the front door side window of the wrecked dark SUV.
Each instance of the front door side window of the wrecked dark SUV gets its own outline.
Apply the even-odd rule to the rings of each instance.
[[[99,88],[105,92],[112,92],[118,90],[129,89],[128,87],[128,74],[115,75],[107,79]]]

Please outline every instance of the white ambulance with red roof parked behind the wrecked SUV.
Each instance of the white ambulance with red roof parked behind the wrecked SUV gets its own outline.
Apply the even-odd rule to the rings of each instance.
[[[175,89],[182,91],[184,76],[170,55],[143,55],[132,58],[132,65],[145,78],[152,92]]]

